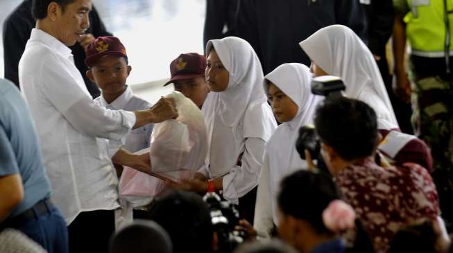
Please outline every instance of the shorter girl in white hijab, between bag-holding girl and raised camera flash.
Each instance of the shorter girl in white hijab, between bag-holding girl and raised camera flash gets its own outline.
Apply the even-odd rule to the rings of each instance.
[[[264,91],[268,94],[278,122],[275,133],[266,144],[264,166],[259,179],[255,229],[266,236],[277,224],[276,196],[279,182],[297,169],[307,168],[296,150],[299,128],[313,124],[316,105],[323,97],[310,89],[311,73],[303,64],[282,64],[264,77]]]

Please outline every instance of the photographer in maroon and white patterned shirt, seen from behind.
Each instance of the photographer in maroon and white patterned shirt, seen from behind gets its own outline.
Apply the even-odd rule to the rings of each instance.
[[[377,117],[370,106],[345,97],[325,100],[316,110],[315,126],[323,160],[377,251],[388,250],[402,225],[437,218],[436,187],[425,168],[376,164]]]

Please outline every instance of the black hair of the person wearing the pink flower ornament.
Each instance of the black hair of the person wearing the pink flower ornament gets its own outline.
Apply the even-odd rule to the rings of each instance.
[[[339,198],[330,176],[321,171],[299,170],[280,182],[277,203],[284,215],[307,221],[318,234],[330,234],[322,214],[332,200]]]

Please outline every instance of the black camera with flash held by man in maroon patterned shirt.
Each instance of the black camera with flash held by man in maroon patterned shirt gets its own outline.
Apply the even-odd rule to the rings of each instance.
[[[315,77],[311,80],[311,93],[325,96],[327,100],[342,97],[342,91],[345,91],[345,89],[345,84],[343,84],[341,78],[333,75]],[[296,149],[302,160],[306,160],[305,150],[308,150],[311,158],[317,160],[318,169],[327,170],[320,156],[320,140],[314,126],[305,125],[300,127],[299,136],[296,140]]]

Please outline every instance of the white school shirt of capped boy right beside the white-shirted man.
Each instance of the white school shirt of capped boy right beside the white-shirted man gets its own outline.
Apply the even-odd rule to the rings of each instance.
[[[117,97],[117,99],[110,104],[105,101],[103,95],[96,97],[94,101],[96,101],[100,106],[110,110],[140,111],[148,110],[152,106],[146,100],[136,97],[130,86],[127,86],[126,91],[124,91],[123,94]],[[126,137],[126,144],[124,144],[123,149],[134,153],[148,148],[153,127],[154,124],[146,124],[144,127],[139,127],[131,131]],[[110,145],[110,148],[111,150],[116,149],[116,145],[112,144]],[[110,153],[110,155],[112,155],[112,153]]]

